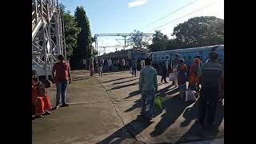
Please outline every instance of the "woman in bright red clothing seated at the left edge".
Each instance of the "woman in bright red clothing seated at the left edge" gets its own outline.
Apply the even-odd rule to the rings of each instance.
[[[36,118],[51,114],[50,97],[46,93],[46,87],[49,87],[49,81],[40,83],[37,72],[32,70],[32,106]]]

